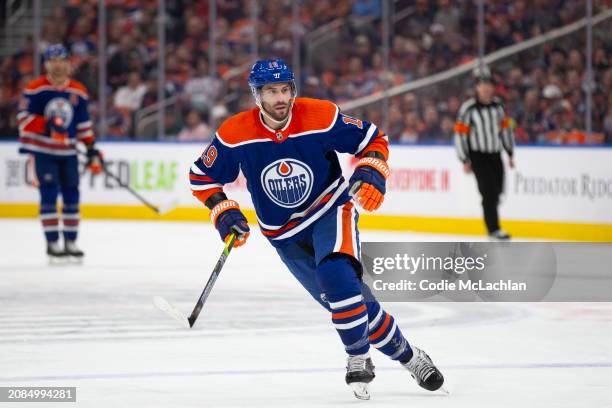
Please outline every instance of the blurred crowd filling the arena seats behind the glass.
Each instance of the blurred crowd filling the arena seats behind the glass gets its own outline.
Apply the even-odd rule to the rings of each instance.
[[[292,1],[217,0],[216,75],[209,67],[207,1],[167,1],[165,134],[206,140],[228,115],[252,106],[246,86],[254,55],[302,61],[299,92],[337,103],[456,67],[478,55],[477,7],[472,0],[395,0],[389,65],[382,53],[381,0],[302,0],[299,23]],[[153,138],[156,124],[141,111],[157,101],[158,33],[156,0],[108,0],[107,84],[98,86],[97,1],[71,0],[44,21],[41,50],[62,42],[71,52],[74,77],[91,96],[99,123],[99,92],[107,105],[109,138]],[[253,5],[256,5],[253,8]],[[595,2],[595,12],[605,5]],[[486,2],[486,52],[532,38],[584,17],[582,0],[491,0]],[[253,16],[257,22],[253,23]],[[63,21],[63,24],[57,24]],[[327,27],[321,29],[321,27]],[[514,118],[519,142],[612,143],[612,66],[609,23],[594,29],[593,131],[586,140],[584,31],[494,64],[498,94]],[[608,28],[608,30],[606,30]],[[315,44],[311,33],[325,30]],[[254,42],[253,39],[257,41]],[[256,48],[255,48],[256,44]],[[0,137],[16,135],[20,93],[32,79],[33,44],[0,62]],[[315,53],[313,56],[312,53]],[[294,67],[295,68],[295,67]],[[385,70],[385,68],[387,68]],[[387,133],[404,143],[447,143],[457,110],[472,87],[467,76],[392,98]],[[383,122],[380,104],[354,113]]]

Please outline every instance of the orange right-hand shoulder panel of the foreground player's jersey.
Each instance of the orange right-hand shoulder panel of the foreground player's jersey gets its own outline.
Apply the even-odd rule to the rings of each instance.
[[[296,98],[293,106],[292,133],[324,132],[336,123],[340,109],[330,101],[313,98]]]

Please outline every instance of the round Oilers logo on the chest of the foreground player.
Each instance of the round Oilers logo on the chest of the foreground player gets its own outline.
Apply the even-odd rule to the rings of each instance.
[[[275,204],[295,208],[304,203],[312,191],[312,170],[295,159],[280,159],[261,173],[261,185]]]

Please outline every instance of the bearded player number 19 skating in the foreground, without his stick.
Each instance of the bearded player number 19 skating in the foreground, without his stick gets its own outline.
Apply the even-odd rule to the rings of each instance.
[[[193,194],[211,210],[221,239],[233,232],[236,246],[243,245],[250,233],[247,220],[223,192],[242,170],[262,233],[331,312],[348,354],[346,382],[355,396],[369,398],[370,346],[399,361],[423,388],[437,390],[444,382],[440,371],[406,341],[361,280],[355,205],[374,211],[383,202],[387,137],[329,101],[298,98],[293,73],[280,59],[255,63],[249,85],[257,107],[219,127],[191,166]],[[338,152],[359,158],[348,183]]]

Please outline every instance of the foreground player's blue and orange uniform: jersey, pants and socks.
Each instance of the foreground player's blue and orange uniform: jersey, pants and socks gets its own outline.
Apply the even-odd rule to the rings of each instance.
[[[193,194],[206,203],[242,171],[261,232],[331,312],[347,353],[365,354],[371,344],[393,359],[409,358],[400,329],[361,281],[359,214],[337,155],[376,152],[386,161],[387,136],[329,101],[296,98],[289,115],[279,130],[259,108],[226,120],[191,166]]]

